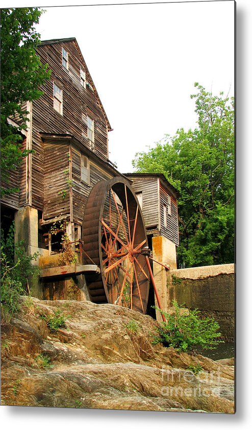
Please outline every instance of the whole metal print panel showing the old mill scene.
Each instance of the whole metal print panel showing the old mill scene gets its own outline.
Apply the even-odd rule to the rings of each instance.
[[[234,23],[1,9],[2,405],[235,413]]]

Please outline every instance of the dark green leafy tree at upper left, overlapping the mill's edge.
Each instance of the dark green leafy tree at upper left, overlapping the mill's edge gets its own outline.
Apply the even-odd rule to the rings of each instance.
[[[22,104],[38,99],[39,86],[48,79],[47,64],[36,55],[40,35],[34,25],[42,11],[38,8],[1,9],[1,173],[9,183],[10,170],[17,169],[28,151],[21,150],[20,130],[26,128],[28,111]],[[19,116],[19,128],[7,123],[12,115]],[[10,194],[13,188],[3,190]]]

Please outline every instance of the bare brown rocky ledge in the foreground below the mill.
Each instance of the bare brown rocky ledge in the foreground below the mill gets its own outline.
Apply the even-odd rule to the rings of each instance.
[[[22,298],[2,326],[2,404],[234,413],[234,362],[153,345],[157,321],[89,301]],[[50,316],[66,326],[52,331]]]

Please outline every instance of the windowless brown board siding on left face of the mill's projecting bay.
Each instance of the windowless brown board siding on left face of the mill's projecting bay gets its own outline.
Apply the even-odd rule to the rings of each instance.
[[[70,214],[69,145],[44,144],[44,221]]]

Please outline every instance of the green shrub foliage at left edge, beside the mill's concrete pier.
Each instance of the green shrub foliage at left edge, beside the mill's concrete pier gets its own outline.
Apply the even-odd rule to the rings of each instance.
[[[8,324],[20,310],[19,296],[26,294],[28,279],[38,275],[32,260],[38,254],[27,255],[23,242],[14,244],[14,223],[4,237],[1,233],[1,321]]]

